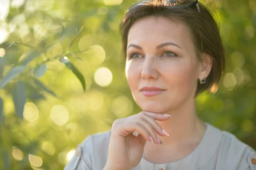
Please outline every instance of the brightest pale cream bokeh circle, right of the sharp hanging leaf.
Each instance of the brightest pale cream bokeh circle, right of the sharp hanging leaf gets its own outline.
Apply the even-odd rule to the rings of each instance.
[[[94,74],[94,80],[99,86],[108,86],[111,84],[112,79],[112,72],[106,67],[97,69]]]

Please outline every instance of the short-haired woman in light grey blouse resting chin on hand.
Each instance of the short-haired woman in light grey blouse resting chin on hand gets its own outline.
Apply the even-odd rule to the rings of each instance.
[[[200,120],[195,97],[216,90],[224,47],[196,0],[146,0],[120,25],[126,78],[143,110],[87,137],[65,170],[256,170],[256,152]]]

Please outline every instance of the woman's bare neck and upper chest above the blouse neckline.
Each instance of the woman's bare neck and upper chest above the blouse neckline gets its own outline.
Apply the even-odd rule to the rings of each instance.
[[[190,144],[201,141],[206,125],[198,118],[195,98],[189,98],[182,106],[163,114],[172,115],[167,121],[157,121],[169,133],[169,136],[158,135],[164,145]]]

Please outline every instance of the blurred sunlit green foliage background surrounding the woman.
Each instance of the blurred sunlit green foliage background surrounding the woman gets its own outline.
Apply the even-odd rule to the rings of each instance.
[[[0,0],[0,169],[61,170],[88,135],[140,112],[118,31],[133,0]],[[256,149],[256,1],[203,1],[227,72],[198,114]]]

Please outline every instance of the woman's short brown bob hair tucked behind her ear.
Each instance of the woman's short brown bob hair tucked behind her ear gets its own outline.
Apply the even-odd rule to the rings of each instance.
[[[177,0],[179,3],[181,0]],[[186,3],[192,3],[195,0],[184,0]],[[219,26],[216,23],[209,9],[198,2],[197,6],[179,6],[174,5],[176,0],[144,0],[131,6],[120,23],[122,32],[123,52],[126,56],[128,32],[131,26],[144,17],[156,16],[167,17],[185,24],[191,34],[195,46],[195,52],[198,58],[202,60],[200,54],[208,54],[212,57],[212,69],[207,77],[205,84],[198,81],[196,95],[206,89],[216,92],[218,82],[225,69],[225,51],[219,33]]]

